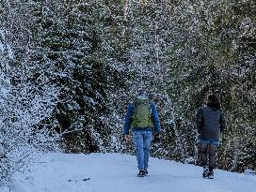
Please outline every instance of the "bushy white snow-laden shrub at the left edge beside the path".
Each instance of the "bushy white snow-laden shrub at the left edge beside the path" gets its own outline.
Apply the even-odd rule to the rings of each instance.
[[[35,150],[55,143],[55,132],[50,133],[43,121],[53,114],[58,91],[43,74],[42,83],[31,81],[33,68],[28,63],[14,65],[5,34],[0,35],[0,46],[5,48],[0,50],[0,185],[4,185],[16,171],[27,170]]]

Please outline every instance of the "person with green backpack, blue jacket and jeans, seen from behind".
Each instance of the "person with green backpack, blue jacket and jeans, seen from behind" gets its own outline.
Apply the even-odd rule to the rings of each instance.
[[[132,127],[136,145],[136,160],[138,174],[143,177],[148,174],[152,129],[156,132],[154,140],[160,139],[160,121],[155,104],[146,92],[140,91],[135,102],[128,106],[123,126],[124,140],[129,141],[129,130]]]

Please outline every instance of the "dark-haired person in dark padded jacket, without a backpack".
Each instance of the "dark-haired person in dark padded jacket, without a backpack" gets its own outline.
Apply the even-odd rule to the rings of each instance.
[[[197,127],[200,134],[199,156],[203,167],[202,176],[213,179],[220,133],[226,128],[225,117],[215,94],[208,95],[206,105],[197,112]]]

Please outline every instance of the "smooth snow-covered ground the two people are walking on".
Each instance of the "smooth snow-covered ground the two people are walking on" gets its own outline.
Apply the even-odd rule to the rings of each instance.
[[[17,175],[11,192],[255,192],[256,176],[201,169],[151,158],[150,175],[136,177],[136,157],[120,154],[47,154],[26,175]],[[83,181],[88,179],[87,181]],[[1,191],[1,190],[0,190]],[[2,189],[4,191],[4,189]],[[7,190],[9,191],[9,190]]]

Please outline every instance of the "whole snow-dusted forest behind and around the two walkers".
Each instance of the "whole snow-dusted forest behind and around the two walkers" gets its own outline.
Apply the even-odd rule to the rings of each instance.
[[[133,155],[122,124],[140,88],[163,129],[152,156],[197,164],[195,114],[213,90],[217,167],[255,170],[254,0],[1,0],[0,21],[2,183],[35,148]]]

